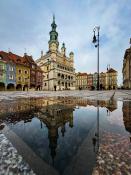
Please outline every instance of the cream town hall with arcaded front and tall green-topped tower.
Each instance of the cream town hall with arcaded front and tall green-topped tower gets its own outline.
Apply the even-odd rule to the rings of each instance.
[[[51,24],[49,50],[36,62],[44,71],[44,90],[63,90],[75,89],[75,69],[74,69],[74,53],[70,52],[69,57],[66,56],[65,44],[62,44],[61,52],[59,51],[58,33],[55,17]]]

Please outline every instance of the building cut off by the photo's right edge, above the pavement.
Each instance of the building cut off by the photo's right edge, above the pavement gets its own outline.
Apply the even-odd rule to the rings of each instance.
[[[125,51],[122,73],[124,88],[131,89],[131,47]]]

